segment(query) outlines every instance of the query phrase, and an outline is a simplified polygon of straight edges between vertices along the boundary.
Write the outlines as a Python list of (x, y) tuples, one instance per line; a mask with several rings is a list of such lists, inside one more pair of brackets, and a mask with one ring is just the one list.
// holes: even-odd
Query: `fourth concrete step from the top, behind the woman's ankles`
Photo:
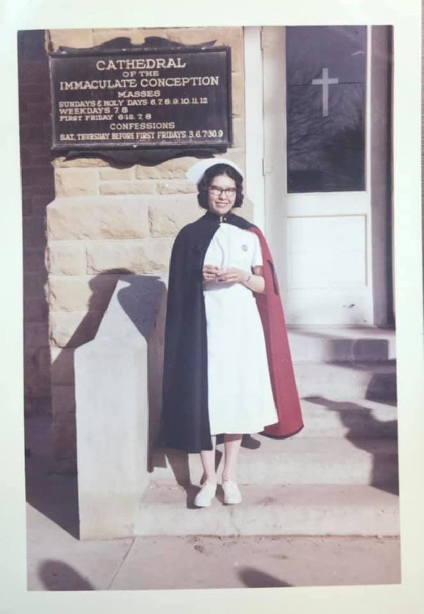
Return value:
[[(237, 464), (240, 484), (396, 484), (398, 445), (393, 439), (294, 437), (276, 440), (261, 435), (245, 438)], [(248, 445), (249, 447), (246, 447)], [(217, 446), (218, 475), (224, 446)], [(198, 484), (200, 454), (157, 448), (152, 480)]]

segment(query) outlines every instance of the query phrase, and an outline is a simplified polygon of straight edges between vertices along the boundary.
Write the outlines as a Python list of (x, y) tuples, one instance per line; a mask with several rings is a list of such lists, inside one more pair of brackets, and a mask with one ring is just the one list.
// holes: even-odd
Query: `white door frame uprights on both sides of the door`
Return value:
[[(366, 216), (366, 283), (371, 286), (370, 325), (391, 324), (391, 27), (367, 26), (366, 68), (366, 151), (365, 192), (369, 198)], [(272, 245), (283, 299), (286, 295), (287, 179), (286, 147), (286, 84), (283, 78), (275, 87), (281, 101), (278, 109), (264, 96), (264, 82), (272, 71), (281, 71), (285, 58), (285, 26), (245, 26), (245, 119), (246, 119), (246, 195), (253, 201), (253, 222), (264, 231)], [(269, 53), (269, 49), (277, 53)], [(258, 91), (262, 95), (258, 96)], [(384, 91), (386, 95), (384, 94)], [(371, 99), (370, 99), (371, 96)], [(275, 105), (274, 105), (275, 106)], [(275, 141), (265, 148), (265, 135)], [(269, 137), (268, 137), (269, 138)], [(267, 157), (267, 151), (279, 152)], [(283, 163), (284, 173), (276, 173), (269, 181), (273, 165)], [(331, 193), (329, 193), (331, 195)], [(333, 193), (336, 194), (336, 193)], [(279, 208), (272, 203), (282, 204)], [(280, 249), (281, 247), (281, 249)], [(283, 273), (283, 274), (281, 274)]]

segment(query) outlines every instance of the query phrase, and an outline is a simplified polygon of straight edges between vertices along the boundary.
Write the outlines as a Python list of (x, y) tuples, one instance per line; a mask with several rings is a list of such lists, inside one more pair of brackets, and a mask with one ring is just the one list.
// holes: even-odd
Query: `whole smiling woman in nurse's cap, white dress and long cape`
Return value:
[(205, 216), (173, 245), (163, 374), (167, 445), (200, 453), (216, 492), (215, 436), (224, 435), (225, 503), (240, 503), (236, 462), (243, 434), (288, 437), (303, 424), (272, 258), (259, 228), (235, 216), (243, 176), (229, 160), (197, 162), (187, 177)]

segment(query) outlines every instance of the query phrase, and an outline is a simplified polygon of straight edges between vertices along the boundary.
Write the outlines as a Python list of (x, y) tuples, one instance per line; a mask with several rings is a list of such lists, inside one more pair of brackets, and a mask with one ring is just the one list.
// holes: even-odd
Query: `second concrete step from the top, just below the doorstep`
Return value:
[(294, 364), (300, 397), (337, 400), (396, 399), (395, 362), (339, 362)]

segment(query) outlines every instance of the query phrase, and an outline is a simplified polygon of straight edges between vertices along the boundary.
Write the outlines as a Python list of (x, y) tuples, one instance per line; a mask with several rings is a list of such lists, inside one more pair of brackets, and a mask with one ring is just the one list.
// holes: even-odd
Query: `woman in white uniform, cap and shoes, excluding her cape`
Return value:
[[(222, 166), (224, 163), (226, 166)], [(214, 166), (216, 174), (214, 174)], [(205, 174), (206, 172), (206, 174)], [(264, 292), (259, 239), (226, 223), (226, 214), (241, 192), (242, 174), (229, 160), (195, 164), (191, 181), (206, 181), (206, 205), (219, 216), (219, 227), (203, 265), (208, 338), (208, 408), (213, 449), (202, 451), (206, 481), (195, 497), (199, 507), (211, 505), (216, 492), (214, 435), (224, 434), (222, 488), (225, 503), (240, 503), (236, 463), (243, 434), (261, 432), (278, 421), (273, 400), (264, 332), (254, 292)]]

